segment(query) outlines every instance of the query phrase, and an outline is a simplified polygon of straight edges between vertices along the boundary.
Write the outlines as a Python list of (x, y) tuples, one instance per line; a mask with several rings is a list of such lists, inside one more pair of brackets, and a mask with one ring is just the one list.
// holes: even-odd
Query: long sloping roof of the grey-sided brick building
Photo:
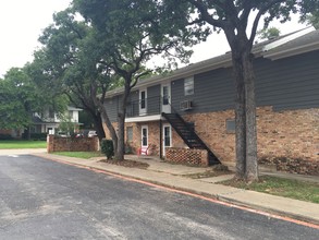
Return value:
[[(295, 55), (305, 53), (319, 49), (319, 29), (306, 27), (273, 39), (269, 39), (254, 45), (251, 52), (256, 58), (263, 57), (271, 60), (287, 58)], [(192, 63), (168, 74), (151, 76), (140, 80), (133, 89), (147, 87), (158, 83), (184, 79), (194, 74), (232, 65), (231, 51), (224, 55), (210, 58), (197, 63)], [(115, 88), (107, 93), (107, 97), (112, 97), (123, 93), (123, 87)]]

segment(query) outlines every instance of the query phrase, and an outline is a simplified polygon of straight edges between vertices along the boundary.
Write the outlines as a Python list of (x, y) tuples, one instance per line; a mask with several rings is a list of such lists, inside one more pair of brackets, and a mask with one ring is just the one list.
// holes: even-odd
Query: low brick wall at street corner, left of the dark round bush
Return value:
[(99, 149), (98, 137), (47, 136), (47, 151), (52, 152), (95, 152)]

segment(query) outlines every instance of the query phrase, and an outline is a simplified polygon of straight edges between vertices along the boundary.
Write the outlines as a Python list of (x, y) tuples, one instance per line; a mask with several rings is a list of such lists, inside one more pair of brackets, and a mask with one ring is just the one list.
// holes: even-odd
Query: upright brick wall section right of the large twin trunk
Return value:
[(319, 161), (319, 109), (257, 111), (258, 154)]

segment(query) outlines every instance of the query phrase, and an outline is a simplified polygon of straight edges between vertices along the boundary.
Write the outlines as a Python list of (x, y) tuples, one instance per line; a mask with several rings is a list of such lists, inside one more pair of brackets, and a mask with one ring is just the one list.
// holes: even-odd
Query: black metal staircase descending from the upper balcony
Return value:
[(162, 116), (168, 120), (168, 122), (173, 127), (189, 148), (206, 149), (208, 152), (209, 165), (220, 164), (220, 160), (179, 113), (162, 112)]

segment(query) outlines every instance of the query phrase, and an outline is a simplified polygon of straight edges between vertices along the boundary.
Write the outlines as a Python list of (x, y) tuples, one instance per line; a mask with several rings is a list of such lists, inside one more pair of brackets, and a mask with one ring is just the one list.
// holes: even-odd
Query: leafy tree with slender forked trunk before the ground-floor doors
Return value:
[[(186, 34), (187, 26), (184, 23), (175, 22), (175, 26), (179, 27), (171, 27), (169, 11), (159, 8), (160, 5), (152, 1), (74, 0), (73, 3), (97, 29), (96, 38), (103, 53), (100, 67), (124, 80), (124, 93), (118, 115), (118, 133), (107, 116), (103, 118), (112, 135), (114, 158), (121, 160), (124, 158), (126, 105), (131, 89), (140, 77), (149, 74), (149, 70), (144, 68), (145, 62), (161, 53), (187, 59), (189, 51), (185, 50), (184, 46), (191, 46), (197, 39), (192, 39)], [(180, 20), (181, 23), (184, 21), (182, 17)], [(103, 106), (99, 109), (106, 115)]]

